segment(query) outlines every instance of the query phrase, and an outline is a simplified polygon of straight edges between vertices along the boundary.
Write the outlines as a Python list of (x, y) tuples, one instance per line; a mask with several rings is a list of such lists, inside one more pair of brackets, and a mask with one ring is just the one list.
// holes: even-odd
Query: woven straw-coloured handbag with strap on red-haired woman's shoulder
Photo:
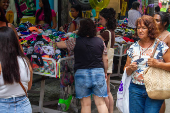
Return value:
[[(154, 57), (156, 48), (160, 41), (157, 42), (151, 58)], [(148, 67), (144, 73), (144, 83), (148, 96), (151, 99), (163, 100), (170, 98), (170, 72), (155, 68)]]

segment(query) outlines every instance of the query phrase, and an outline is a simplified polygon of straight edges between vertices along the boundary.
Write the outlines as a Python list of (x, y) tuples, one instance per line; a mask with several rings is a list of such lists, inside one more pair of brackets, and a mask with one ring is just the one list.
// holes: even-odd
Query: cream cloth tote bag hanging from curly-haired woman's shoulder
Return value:
[(107, 44), (107, 57), (108, 57), (107, 73), (112, 73), (114, 48), (111, 48), (111, 32), (109, 30), (105, 30), (105, 31), (109, 32), (109, 41)]

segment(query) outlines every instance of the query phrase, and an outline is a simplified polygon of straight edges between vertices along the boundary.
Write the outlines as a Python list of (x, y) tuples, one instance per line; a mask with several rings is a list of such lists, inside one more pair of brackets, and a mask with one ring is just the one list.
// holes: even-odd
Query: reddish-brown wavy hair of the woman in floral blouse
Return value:
[(153, 17), (148, 16), (148, 15), (144, 15), (141, 18), (138, 18), (136, 20), (136, 28), (135, 28), (135, 35), (137, 36), (137, 27), (139, 24), (141, 24), (143, 22), (143, 24), (148, 28), (148, 37), (150, 39), (155, 39), (157, 38), (158, 34), (159, 34), (159, 30), (158, 27), (156, 25), (156, 22), (154, 20)]

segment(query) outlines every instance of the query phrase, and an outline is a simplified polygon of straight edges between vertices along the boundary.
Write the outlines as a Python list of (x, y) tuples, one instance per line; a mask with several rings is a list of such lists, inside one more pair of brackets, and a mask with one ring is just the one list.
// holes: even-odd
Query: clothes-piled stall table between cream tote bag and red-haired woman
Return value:
[(130, 45), (134, 43), (134, 33), (133, 29), (128, 28), (128, 19), (124, 18), (123, 20), (118, 20), (118, 26), (115, 29), (115, 44), (114, 44), (114, 56), (118, 58), (118, 71), (116, 74), (112, 74), (112, 76), (121, 76), (121, 62), (122, 57), (127, 55), (127, 50)]

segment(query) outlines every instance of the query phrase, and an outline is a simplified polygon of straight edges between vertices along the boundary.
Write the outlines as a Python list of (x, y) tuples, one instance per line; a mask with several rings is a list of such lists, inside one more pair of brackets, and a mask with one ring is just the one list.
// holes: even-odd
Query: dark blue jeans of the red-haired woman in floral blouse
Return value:
[(129, 108), (130, 113), (159, 113), (164, 100), (154, 100), (148, 97), (145, 85), (130, 83)]

